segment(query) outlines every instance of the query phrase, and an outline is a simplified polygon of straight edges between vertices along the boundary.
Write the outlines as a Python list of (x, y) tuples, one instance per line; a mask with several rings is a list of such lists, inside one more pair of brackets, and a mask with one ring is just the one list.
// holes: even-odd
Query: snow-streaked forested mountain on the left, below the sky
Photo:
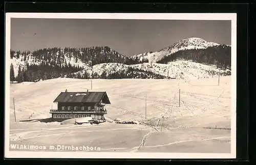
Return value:
[(14, 74), (17, 76), (18, 67), (27, 69), (27, 65), (46, 64), (52, 67), (79, 67), (92, 66), (100, 63), (118, 62), (125, 63), (127, 57), (108, 46), (86, 48), (45, 48), (32, 53), (11, 50), (10, 64), (13, 65)]

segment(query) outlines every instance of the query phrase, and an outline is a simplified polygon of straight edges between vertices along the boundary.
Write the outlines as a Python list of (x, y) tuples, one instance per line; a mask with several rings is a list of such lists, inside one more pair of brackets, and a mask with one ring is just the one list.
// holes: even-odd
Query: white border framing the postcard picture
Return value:
[[(231, 153), (140, 153), (140, 152), (38, 152), (9, 151), (10, 128), (10, 28), (11, 18), (62, 19), (161, 19), (161, 20), (231, 20)], [(5, 157), (6, 158), (236, 158), (236, 13), (6, 13), (5, 61)]]

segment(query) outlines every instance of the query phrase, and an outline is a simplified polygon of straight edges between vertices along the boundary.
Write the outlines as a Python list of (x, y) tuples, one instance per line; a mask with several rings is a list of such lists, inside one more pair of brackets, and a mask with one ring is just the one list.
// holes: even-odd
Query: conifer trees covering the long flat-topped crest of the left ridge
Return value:
[(86, 48), (54, 47), (38, 49), (32, 52), (20, 52), (19, 50), (10, 51), (11, 59), (13, 57), (19, 59), (20, 56), (23, 56), (24, 61), (29, 60), (29, 58), (33, 58), (33, 62), (44, 62), (58, 66), (65, 63), (67, 64), (66, 58), (73, 58), (74, 62), (76, 63), (78, 62), (78, 60), (80, 60), (82, 63), (88, 64), (89, 66), (101, 63), (121, 63), (131, 65), (148, 62), (148, 60), (145, 60), (144, 58), (142, 61), (139, 61), (139, 58), (130, 59), (128, 57), (125, 57), (108, 46), (95, 46)]

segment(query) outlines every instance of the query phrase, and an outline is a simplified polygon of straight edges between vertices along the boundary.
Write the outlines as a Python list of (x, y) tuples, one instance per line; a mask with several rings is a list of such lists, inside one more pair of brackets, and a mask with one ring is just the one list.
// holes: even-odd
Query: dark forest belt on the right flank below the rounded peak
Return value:
[(206, 49), (185, 49), (164, 57), (157, 63), (167, 64), (177, 59), (191, 60), (201, 64), (217, 65), (220, 68), (231, 68), (231, 47), (218, 45)]

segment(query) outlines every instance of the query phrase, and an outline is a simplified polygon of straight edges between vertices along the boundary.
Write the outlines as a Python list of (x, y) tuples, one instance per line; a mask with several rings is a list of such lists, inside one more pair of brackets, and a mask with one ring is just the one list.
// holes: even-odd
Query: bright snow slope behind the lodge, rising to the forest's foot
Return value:
[[(228, 122), (230, 119), (231, 76), (208, 79), (93, 79), (92, 91), (108, 93), (111, 104), (106, 105), (106, 117), (122, 120), (144, 120), (145, 94), (147, 120), (165, 116), (173, 125), (203, 125)], [(87, 79), (56, 78), (28, 85), (10, 85), (10, 97), (15, 98), (17, 120), (51, 117), (57, 108), (53, 100), (60, 92), (82, 91), (91, 87)], [(181, 106), (179, 105), (181, 90)], [(47, 96), (47, 97), (46, 97)], [(39, 101), (38, 100), (44, 100)], [(10, 99), (10, 121), (14, 121)], [(179, 121), (179, 122), (178, 122)]]

